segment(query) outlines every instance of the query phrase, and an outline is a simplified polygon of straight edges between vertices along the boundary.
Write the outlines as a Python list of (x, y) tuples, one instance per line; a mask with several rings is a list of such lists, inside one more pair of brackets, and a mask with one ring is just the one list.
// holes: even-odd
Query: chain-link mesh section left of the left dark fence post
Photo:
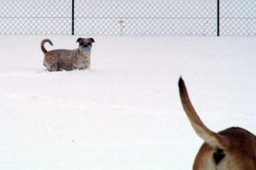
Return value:
[(4, 0), (0, 8), (1, 34), (70, 34), (70, 1)]

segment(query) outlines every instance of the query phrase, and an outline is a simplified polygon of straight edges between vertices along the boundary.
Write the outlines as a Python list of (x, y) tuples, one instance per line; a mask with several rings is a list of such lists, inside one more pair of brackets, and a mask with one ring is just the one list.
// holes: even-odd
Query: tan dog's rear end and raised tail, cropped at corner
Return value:
[(214, 133), (198, 117), (181, 78), (179, 88), (181, 102), (192, 127), (205, 141), (197, 153), (193, 169), (256, 169), (256, 136), (242, 128)]

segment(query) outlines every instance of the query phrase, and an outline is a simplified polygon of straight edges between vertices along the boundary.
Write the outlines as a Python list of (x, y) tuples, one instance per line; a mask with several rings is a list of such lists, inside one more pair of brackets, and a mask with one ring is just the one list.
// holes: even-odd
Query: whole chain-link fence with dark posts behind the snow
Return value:
[(255, 0), (220, 1), (220, 18), (217, 4), (216, 0), (2, 0), (0, 34), (256, 35)]

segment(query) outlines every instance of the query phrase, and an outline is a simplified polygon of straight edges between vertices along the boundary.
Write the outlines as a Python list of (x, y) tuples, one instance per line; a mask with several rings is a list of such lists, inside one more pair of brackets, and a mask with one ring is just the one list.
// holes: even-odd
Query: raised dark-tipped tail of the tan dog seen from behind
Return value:
[(196, 131), (197, 135), (200, 136), (207, 144), (214, 149), (226, 149), (229, 147), (229, 141), (225, 136), (221, 136), (218, 133), (214, 133), (208, 129), (204, 123), (200, 120), (199, 116), (194, 110), (194, 107), (189, 100), (188, 91), (186, 89), (183, 79), (179, 80), (180, 97), (181, 102), (186, 112), (192, 127)]

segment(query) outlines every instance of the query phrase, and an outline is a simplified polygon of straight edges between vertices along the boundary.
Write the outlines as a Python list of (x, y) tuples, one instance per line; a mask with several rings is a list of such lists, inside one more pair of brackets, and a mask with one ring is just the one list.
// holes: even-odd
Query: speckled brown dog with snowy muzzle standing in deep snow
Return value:
[(51, 45), (52, 42), (49, 39), (44, 39), (41, 42), (41, 49), (44, 53), (43, 63), (49, 71), (60, 71), (60, 69), (72, 71), (73, 69), (89, 68), (93, 38), (78, 38), (76, 42), (79, 43), (79, 46), (75, 50), (57, 49), (47, 52), (46, 48), (44, 48), (44, 43), (46, 42)]

